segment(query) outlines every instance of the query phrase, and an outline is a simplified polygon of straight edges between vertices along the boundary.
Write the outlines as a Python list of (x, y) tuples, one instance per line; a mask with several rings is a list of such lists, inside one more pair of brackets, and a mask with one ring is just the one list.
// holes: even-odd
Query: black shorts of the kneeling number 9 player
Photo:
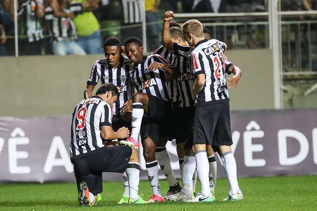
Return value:
[(80, 182), (87, 182), (94, 195), (103, 192), (103, 172), (123, 173), (128, 166), (132, 149), (129, 146), (103, 147), (86, 157), (71, 159), (79, 189)]

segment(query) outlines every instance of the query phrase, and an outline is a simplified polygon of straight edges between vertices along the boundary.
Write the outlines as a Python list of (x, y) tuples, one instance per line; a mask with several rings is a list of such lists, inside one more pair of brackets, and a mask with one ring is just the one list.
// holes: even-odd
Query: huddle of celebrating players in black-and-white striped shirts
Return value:
[[(104, 43), (105, 58), (93, 65), (85, 100), (75, 107), (71, 125), (70, 157), (82, 206), (101, 200), (102, 172), (123, 173), (118, 204), (213, 202), (215, 157), (229, 181), (224, 201), (243, 198), (231, 151), (228, 94), (228, 88), (238, 84), (241, 70), (227, 60), (226, 44), (207, 39), (210, 35), (198, 20), (181, 27), (170, 22), (173, 18), (172, 11), (164, 13), (163, 45), (150, 55), (144, 55), (136, 37), (128, 38), (124, 47), (119, 39), (109, 38)], [(226, 80), (225, 73), (232, 76)], [(99, 80), (102, 86), (92, 96)], [(138, 193), (139, 139), (153, 190), (148, 200)], [(181, 186), (166, 150), (167, 141), (173, 139)], [(165, 196), (158, 165), (169, 184)], [(196, 193), (197, 177), (201, 193)]]

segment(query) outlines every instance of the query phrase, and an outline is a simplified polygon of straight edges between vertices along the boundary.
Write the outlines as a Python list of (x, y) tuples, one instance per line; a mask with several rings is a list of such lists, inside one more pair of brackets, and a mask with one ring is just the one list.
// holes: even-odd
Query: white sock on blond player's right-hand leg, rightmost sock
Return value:
[(237, 192), (240, 192), (238, 179), (237, 179), (236, 160), (234, 159), (234, 156), (231, 151), (224, 153), (222, 156), (224, 158), (225, 169), (227, 172), (229, 185), (230, 185), (229, 195), (232, 196), (232, 194), (236, 194)]

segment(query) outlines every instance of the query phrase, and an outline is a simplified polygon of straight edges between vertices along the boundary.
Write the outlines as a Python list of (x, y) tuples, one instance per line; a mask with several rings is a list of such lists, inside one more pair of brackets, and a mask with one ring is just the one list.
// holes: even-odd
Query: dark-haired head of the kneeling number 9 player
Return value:
[(110, 106), (118, 99), (119, 91), (118, 88), (111, 83), (103, 84), (96, 91), (96, 95), (99, 95), (106, 103)]

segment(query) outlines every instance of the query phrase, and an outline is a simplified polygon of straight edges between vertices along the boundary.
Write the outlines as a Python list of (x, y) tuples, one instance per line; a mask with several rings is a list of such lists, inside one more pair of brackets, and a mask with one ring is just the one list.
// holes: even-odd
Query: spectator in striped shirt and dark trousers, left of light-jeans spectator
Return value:
[[(42, 3), (38, 0), (18, 1), (18, 35), (19, 55), (42, 54), (43, 30), (40, 20), (44, 17)], [(11, 20), (14, 21), (13, 0), (10, 9)]]

